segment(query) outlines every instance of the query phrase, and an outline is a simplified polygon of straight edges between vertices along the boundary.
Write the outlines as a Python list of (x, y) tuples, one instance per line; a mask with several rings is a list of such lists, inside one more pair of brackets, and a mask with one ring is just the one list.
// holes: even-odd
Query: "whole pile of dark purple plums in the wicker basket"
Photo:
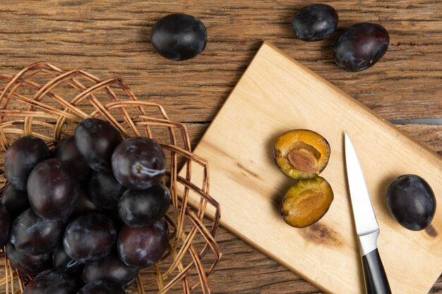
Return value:
[(169, 245), (166, 159), (148, 137), (123, 140), (97, 118), (51, 152), (20, 137), (5, 154), (0, 247), (35, 276), (24, 293), (125, 293)]

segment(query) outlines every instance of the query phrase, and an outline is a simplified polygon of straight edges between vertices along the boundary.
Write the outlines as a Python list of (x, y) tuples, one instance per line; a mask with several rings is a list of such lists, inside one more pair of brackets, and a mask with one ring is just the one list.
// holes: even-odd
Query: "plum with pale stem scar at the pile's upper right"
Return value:
[(160, 144), (148, 137), (131, 137), (112, 154), (115, 178), (131, 190), (145, 190), (162, 180), (166, 158)]

